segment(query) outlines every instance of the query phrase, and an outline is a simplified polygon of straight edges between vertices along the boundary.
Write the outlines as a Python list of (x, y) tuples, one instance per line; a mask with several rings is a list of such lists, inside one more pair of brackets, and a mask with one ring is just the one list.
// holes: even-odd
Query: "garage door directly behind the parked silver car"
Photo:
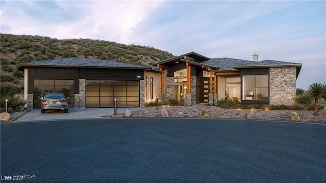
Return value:
[(74, 83), (73, 80), (63, 79), (34, 79), (33, 108), (41, 107), (41, 99), (45, 93), (60, 92), (69, 97), (69, 108), (74, 107)]

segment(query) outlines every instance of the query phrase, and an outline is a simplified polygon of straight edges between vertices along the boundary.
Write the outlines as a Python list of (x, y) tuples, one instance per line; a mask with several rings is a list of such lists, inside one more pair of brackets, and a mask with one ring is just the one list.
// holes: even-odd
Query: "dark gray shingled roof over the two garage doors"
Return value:
[(102, 60), (95, 58), (60, 58), (20, 64), (20, 67), (71, 67), (71, 68), (113, 68), (113, 69), (151, 69), (151, 67)]

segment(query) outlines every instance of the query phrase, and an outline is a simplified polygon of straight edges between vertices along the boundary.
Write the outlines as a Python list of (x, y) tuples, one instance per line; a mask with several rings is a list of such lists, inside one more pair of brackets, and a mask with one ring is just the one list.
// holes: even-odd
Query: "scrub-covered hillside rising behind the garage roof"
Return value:
[(150, 66), (174, 55), (149, 46), (125, 45), (92, 39), (63, 39), (43, 36), (0, 34), (1, 83), (23, 87), (21, 63), (67, 57), (97, 58)]

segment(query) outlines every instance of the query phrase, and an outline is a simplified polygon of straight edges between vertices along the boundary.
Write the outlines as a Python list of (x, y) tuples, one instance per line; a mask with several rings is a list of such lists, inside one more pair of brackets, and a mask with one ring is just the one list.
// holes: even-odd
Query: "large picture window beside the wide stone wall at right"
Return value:
[(269, 100), (268, 75), (242, 76), (242, 100)]

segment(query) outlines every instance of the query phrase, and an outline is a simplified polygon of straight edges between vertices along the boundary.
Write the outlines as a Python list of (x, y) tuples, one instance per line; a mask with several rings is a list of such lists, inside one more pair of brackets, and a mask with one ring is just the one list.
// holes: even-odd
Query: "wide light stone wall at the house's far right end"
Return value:
[(293, 105), (296, 68), (269, 68), (269, 105)]

